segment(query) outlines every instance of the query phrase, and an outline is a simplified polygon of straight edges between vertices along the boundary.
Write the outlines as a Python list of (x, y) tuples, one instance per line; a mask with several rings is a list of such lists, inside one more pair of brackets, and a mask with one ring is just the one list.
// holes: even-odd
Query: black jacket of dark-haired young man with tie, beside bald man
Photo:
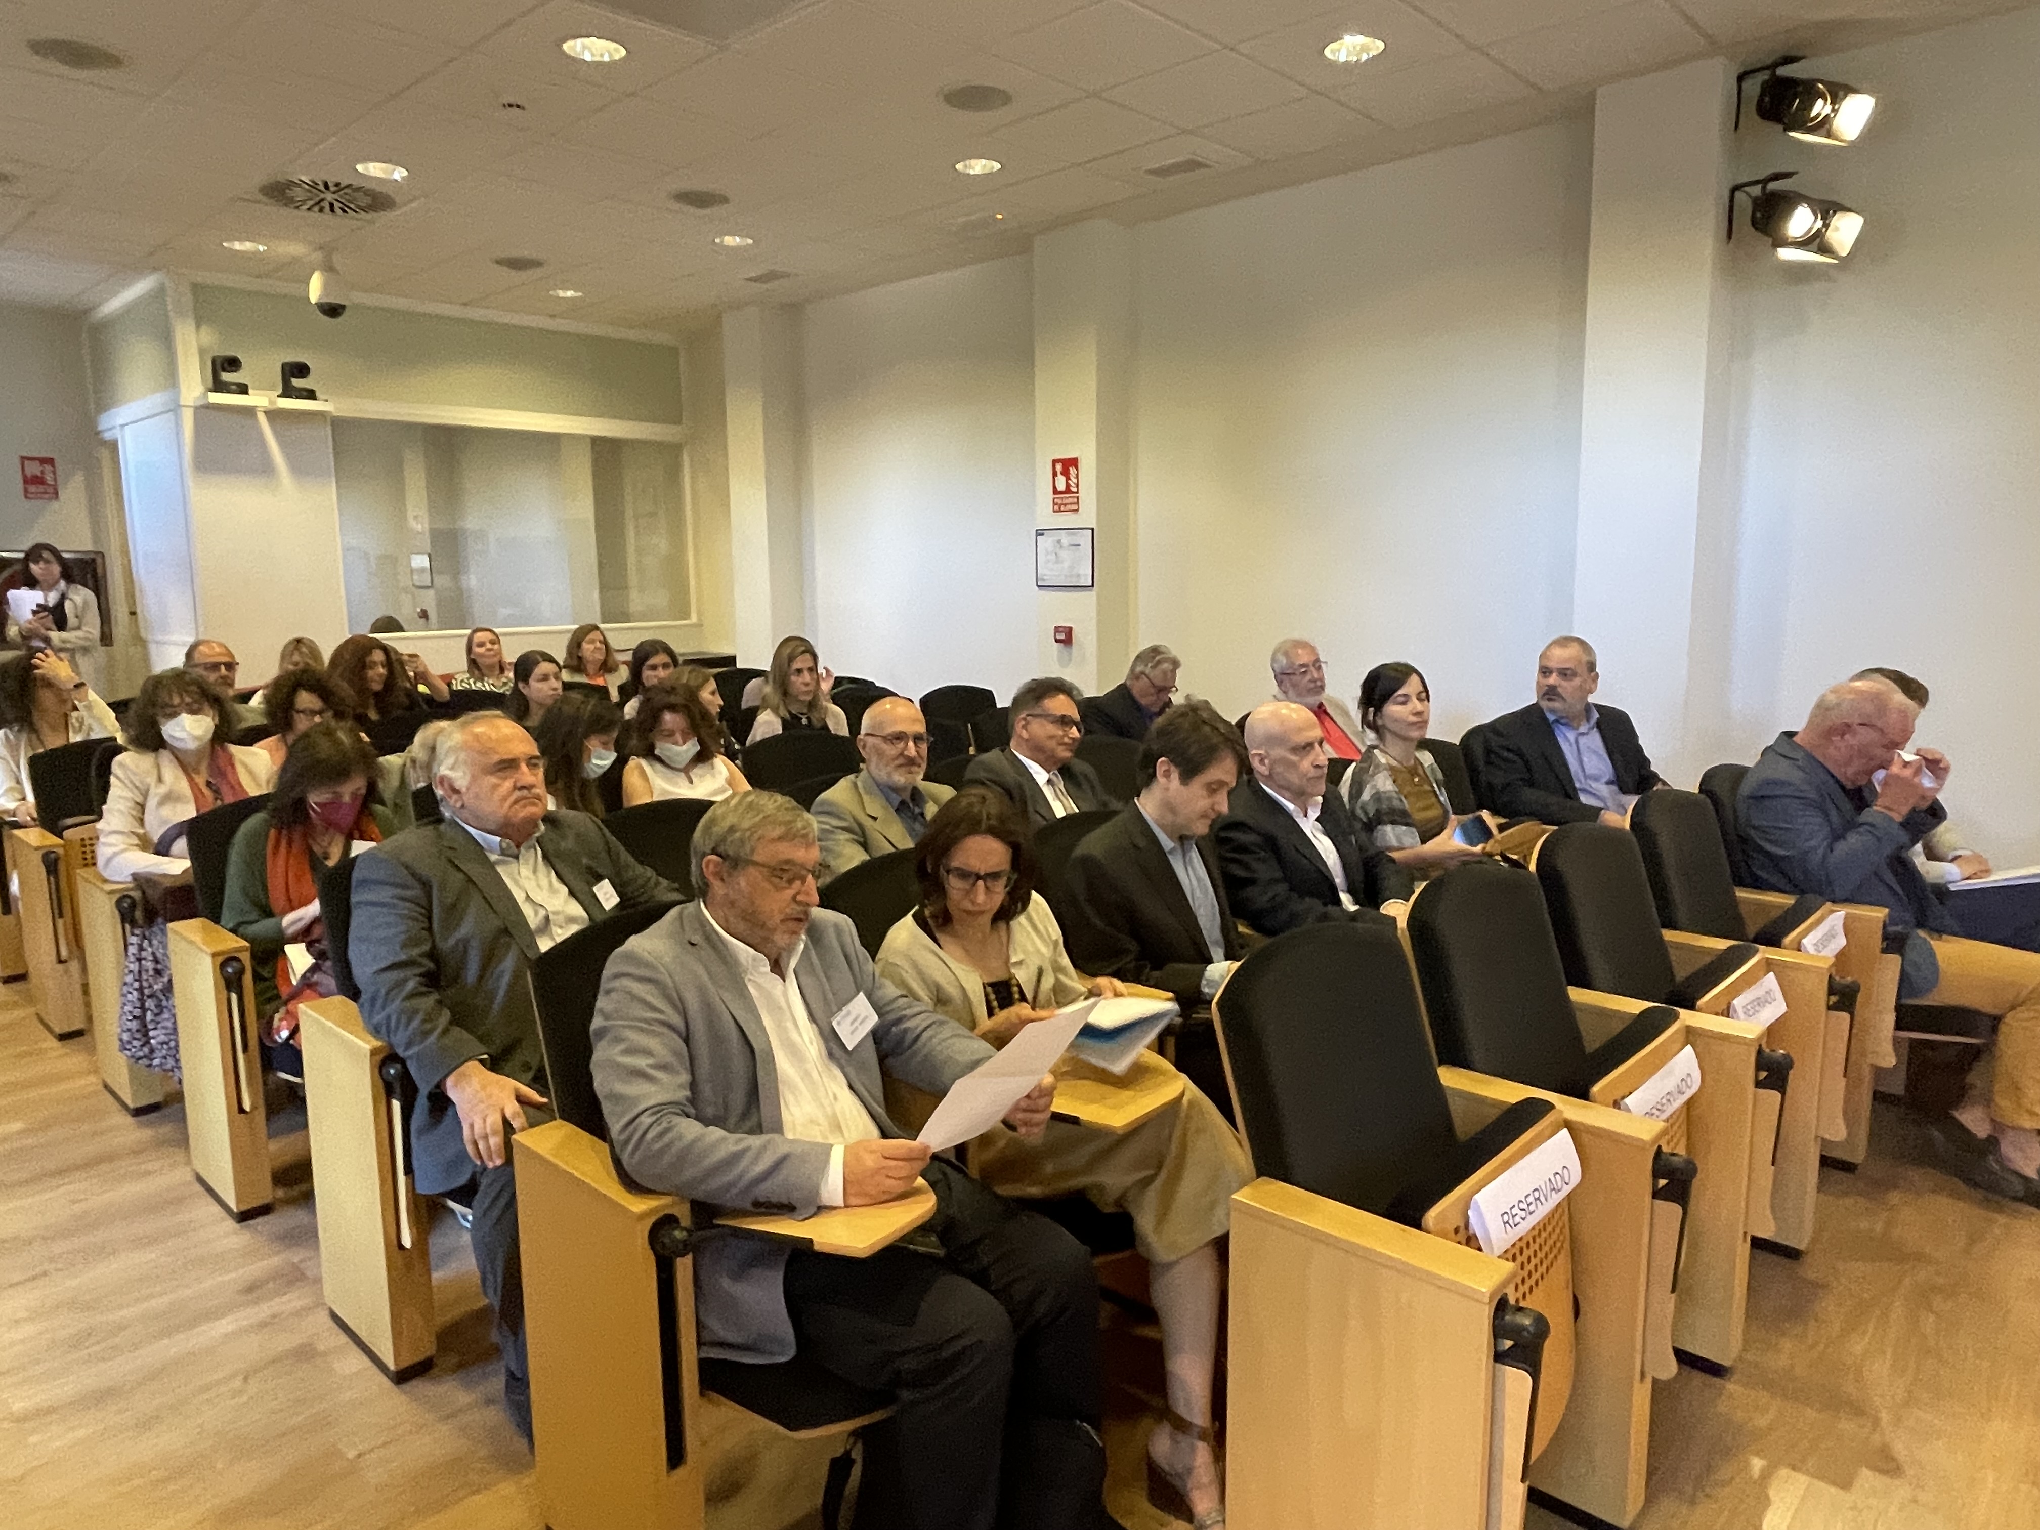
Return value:
[[(1197, 855), (1218, 896), (1226, 961), (1236, 961), (1244, 947), (1210, 838), (1197, 840)], [(1079, 971), (1167, 989), (1185, 1016), (1204, 1006), (1204, 969), (1212, 965), (1212, 951), (1183, 883), (1136, 804), (1128, 802), (1118, 818), (1085, 836), (1069, 857), (1063, 879), (1071, 910), (1063, 945)]]

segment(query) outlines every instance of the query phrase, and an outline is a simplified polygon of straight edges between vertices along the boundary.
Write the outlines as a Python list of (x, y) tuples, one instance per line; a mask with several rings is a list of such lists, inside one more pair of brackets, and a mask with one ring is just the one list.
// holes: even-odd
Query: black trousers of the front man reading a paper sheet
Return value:
[(1089, 1251), (942, 1159), (922, 1177), (940, 1257), (796, 1253), (785, 1267), (802, 1353), (898, 1401), (865, 1432), (859, 1530), (1104, 1524)]

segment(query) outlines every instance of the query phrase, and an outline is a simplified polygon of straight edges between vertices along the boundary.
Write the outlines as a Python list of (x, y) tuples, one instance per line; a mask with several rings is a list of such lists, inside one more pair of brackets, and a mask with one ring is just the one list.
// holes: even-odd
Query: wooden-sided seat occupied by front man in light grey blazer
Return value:
[[(800, 1355), (775, 1365), (700, 1359), (694, 1248), (765, 1236), (859, 1259), (926, 1222), (934, 1193), (916, 1183), (883, 1206), (692, 1226), (685, 1200), (622, 1179), (590, 1075), (590, 1020), (610, 953), (669, 910), (622, 912), (532, 963), (557, 1120), (518, 1132), (512, 1159), (541, 1518), (553, 1530), (702, 1526), (714, 1475), (710, 1410), (726, 1406), (771, 1426), (753, 1436), (767, 1457), (759, 1469), (812, 1471), (822, 1526), (834, 1530), (857, 1432), (891, 1399)], [(845, 1446), (832, 1455), (836, 1440)]]

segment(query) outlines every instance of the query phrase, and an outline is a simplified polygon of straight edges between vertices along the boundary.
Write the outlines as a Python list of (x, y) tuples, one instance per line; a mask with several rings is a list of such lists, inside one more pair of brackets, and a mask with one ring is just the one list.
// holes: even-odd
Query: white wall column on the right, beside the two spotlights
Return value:
[[(1726, 677), (1722, 208), (1734, 73), (1701, 59), (1595, 94), (1573, 630), (1661, 773), (1691, 785)], [(1705, 673), (1703, 673), (1705, 671)], [(1722, 687), (1716, 694), (1716, 687)]]

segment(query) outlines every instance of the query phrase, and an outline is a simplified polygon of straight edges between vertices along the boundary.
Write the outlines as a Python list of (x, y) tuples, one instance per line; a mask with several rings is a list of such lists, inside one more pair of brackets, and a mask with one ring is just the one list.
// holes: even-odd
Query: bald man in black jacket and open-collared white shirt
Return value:
[(1293, 702), (1246, 714), (1253, 775), (1232, 789), (1218, 820), (1218, 863), (1232, 908), (1261, 934), (1318, 920), (1371, 918), (1410, 898), (1416, 881), (1361, 836), (1336, 794), (1326, 794), (1324, 734)]

